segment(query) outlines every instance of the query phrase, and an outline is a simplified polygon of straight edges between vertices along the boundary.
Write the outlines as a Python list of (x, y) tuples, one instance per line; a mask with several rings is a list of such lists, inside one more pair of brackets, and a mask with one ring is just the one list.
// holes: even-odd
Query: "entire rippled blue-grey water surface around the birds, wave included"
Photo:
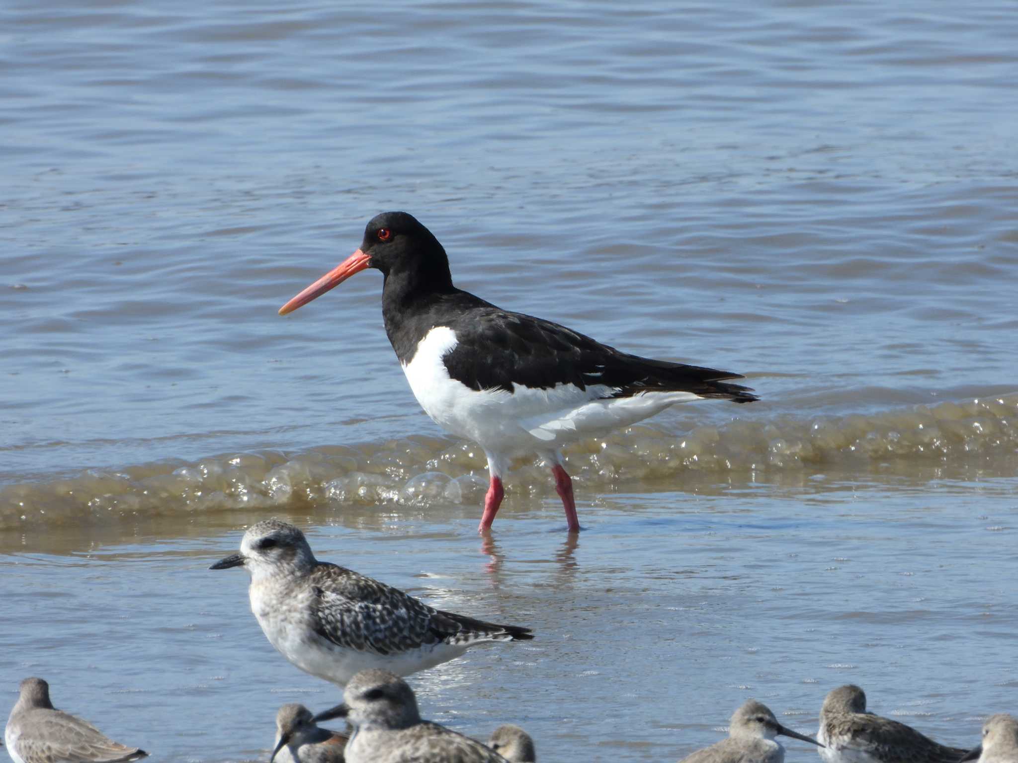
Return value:
[[(154, 759), (267, 760), (338, 691), (275, 654), (267, 516), (323, 559), (534, 628), (412, 679), (543, 760), (669, 760), (748, 696), (957, 746), (1018, 709), (1011, 4), (9, 2), (0, 9), (0, 696)], [(459, 286), (744, 373), (567, 452), (586, 530), (419, 410), (383, 210)], [(0, 713), (7, 705), (0, 705)], [(791, 742), (790, 759), (815, 752)]]

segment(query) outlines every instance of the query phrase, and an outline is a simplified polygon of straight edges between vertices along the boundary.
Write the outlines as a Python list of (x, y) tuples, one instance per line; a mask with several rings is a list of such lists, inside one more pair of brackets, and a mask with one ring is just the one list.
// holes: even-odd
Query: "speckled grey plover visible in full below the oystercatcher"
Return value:
[(211, 569), (231, 567), (250, 574), (251, 611), (270, 643), (301, 670), (339, 686), (370, 667), (407, 676), (474, 644), (533, 638), (529, 628), (441, 611), (385, 583), (319, 562), (304, 534), (278, 519), (251, 525), (240, 553)]

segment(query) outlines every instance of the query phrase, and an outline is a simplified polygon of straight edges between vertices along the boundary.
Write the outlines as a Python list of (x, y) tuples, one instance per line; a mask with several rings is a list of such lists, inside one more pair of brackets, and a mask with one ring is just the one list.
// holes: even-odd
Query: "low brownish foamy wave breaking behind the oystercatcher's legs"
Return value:
[[(823, 419), (736, 419), (687, 434), (633, 426), (568, 449), (569, 471), (588, 490), (675, 488), (693, 473), (868, 470), (874, 464), (976, 467), (1014, 474), (1018, 394)], [(475, 445), (410, 436), (297, 455), (275, 451), (157, 462), (121, 471), (0, 490), (0, 529), (104, 518), (327, 505), (479, 504), (487, 461)], [(523, 464), (507, 489), (551, 493), (544, 465)]]

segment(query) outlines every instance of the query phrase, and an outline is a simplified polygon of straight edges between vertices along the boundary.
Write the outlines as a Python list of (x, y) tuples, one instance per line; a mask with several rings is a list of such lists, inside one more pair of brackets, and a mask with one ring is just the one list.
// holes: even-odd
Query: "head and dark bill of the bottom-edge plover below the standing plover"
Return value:
[(315, 722), (346, 718), (358, 728), (406, 728), (420, 722), (417, 700), (406, 682), (388, 670), (356, 673), (343, 690), (343, 704), (319, 713)]

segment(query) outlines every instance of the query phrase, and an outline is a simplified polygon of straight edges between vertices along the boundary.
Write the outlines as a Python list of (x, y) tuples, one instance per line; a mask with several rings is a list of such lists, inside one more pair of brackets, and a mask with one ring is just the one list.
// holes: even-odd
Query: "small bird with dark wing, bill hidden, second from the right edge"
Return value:
[(891, 718), (866, 711), (866, 694), (854, 684), (824, 698), (819, 751), (827, 763), (957, 763), (967, 750), (939, 745)]

